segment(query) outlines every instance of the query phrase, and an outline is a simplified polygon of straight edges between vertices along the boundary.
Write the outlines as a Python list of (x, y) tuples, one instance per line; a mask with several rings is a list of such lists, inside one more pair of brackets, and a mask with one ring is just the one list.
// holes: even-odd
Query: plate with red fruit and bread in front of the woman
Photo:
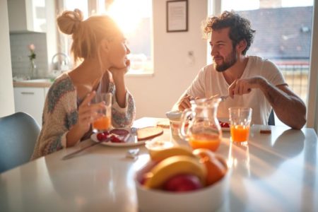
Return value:
[(137, 129), (136, 134), (131, 132), (131, 128), (114, 128), (110, 131), (103, 131), (92, 134), (90, 139), (95, 142), (101, 142), (105, 146), (139, 146), (144, 144), (149, 139), (163, 134), (163, 129), (157, 126), (148, 126)]

